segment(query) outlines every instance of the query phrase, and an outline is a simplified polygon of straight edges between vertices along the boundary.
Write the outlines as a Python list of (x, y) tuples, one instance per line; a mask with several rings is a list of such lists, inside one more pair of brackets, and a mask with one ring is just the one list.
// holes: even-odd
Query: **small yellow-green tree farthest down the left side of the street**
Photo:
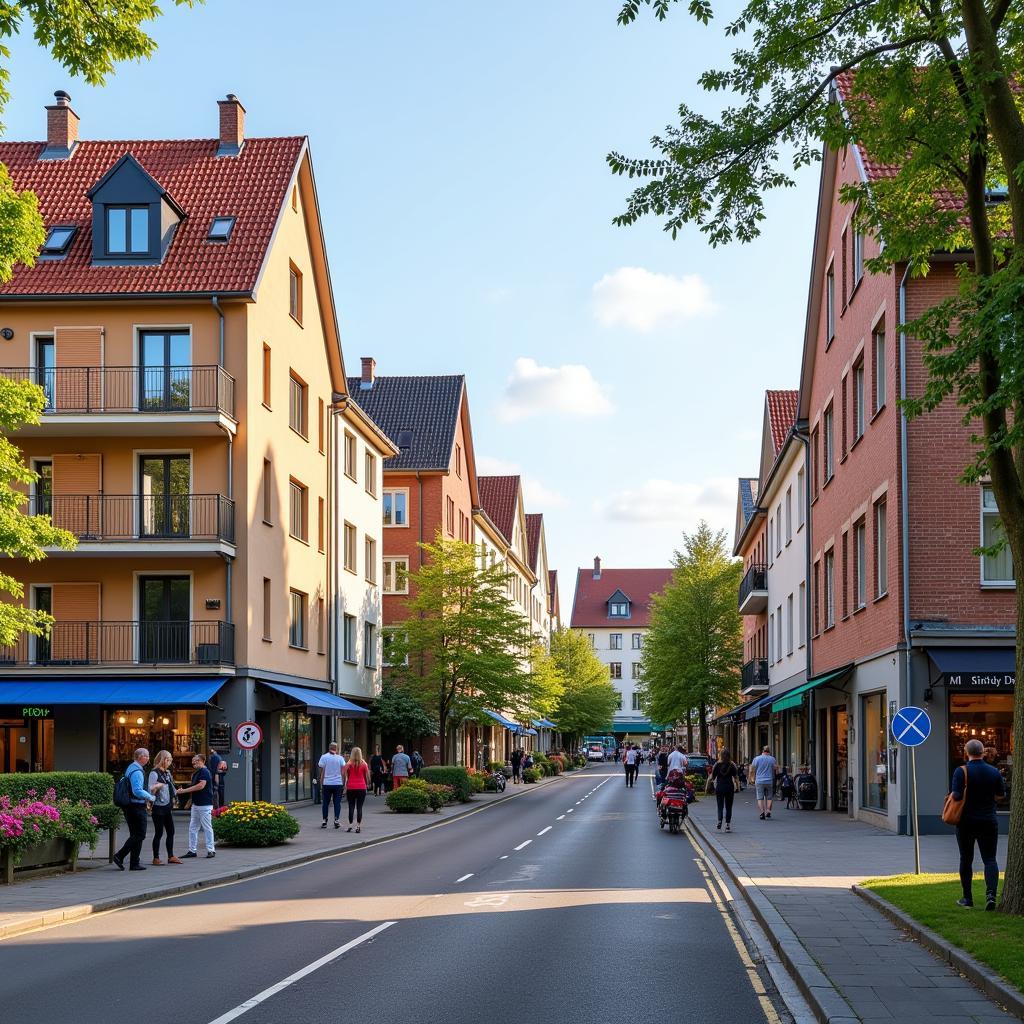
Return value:
[(604, 732), (618, 706), (618, 695), (608, 668), (602, 665), (590, 641), (575, 630), (551, 635), (551, 659), (562, 682), (562, 692), (549, 716), (563, 736), (577, 744), (584, 736)]

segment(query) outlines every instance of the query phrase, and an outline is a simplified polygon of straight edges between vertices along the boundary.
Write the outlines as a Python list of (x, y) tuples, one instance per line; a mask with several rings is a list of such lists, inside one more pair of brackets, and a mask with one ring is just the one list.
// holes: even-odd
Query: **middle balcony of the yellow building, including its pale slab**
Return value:
[(33, 515), (78, 538), (62, 554), (234, 554), (234, 502), (223, 495), (34, 495)]

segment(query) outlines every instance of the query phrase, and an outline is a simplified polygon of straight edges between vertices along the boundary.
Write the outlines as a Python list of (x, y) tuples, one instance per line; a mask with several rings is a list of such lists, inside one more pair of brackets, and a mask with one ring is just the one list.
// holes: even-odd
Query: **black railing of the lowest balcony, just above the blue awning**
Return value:
[(220, 622), (54, 623), (0, 647), (3, 666), (233, 664), (234, 625)]

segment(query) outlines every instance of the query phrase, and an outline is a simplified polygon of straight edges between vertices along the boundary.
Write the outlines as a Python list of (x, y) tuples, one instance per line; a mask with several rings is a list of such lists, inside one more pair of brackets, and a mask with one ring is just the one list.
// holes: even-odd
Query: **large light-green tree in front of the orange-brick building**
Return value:
[(507, 569), (481, 564), (479, 549), (440, 535), (421, 545), (413, 596), (388, 648), (392, 676), (437, 719), (445, 753), (454, 731), (485, 711), (529, 708), (530, 634), (508, 592)]

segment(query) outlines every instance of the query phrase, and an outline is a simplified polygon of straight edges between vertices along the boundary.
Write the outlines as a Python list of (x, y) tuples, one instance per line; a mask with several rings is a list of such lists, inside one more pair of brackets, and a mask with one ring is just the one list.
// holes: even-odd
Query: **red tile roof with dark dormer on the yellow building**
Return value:
[[(43, 142), (0, 142), (0, 162), (15, 187), (39, 197), (46, 225), (78, 225), (63, 259), (18, 267), (0, 284), (0, 296), (252, 292), (305, 139), (247, 139), (237, 157), (217, 157), (218, 144), (217, 139), (84, 141), (67, 160), (39, 160)], [(126, 153), (186, 217), (162, 263), (93, 266), (86, 193)], [(236, 218), (227, 243), (206, 241), (216, 216)]]

